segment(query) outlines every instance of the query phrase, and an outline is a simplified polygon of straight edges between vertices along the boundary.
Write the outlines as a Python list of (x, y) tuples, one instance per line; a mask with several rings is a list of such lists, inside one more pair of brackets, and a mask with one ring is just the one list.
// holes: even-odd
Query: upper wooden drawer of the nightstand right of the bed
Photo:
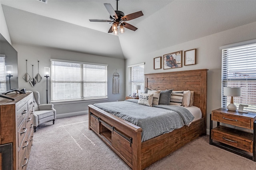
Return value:
[(217, 121), (217, 122), (222, 122), (222, 123), (227, 123), (230, 125), (238, 126), (238, 127), (243, 127), (243, 128), (249, 128), (251, 129), (252, 123), (250, 118), (246, 117), (239, 117), (236, 115), (228, 115), (228, 114), (223, 114), (223, 113), (212, 113), (212, 120)]

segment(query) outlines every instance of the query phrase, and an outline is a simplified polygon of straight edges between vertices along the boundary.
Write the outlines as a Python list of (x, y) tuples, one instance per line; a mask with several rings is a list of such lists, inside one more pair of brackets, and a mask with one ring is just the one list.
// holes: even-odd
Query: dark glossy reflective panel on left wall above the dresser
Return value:
[(2, 61), (5, 61), (5, 63), (0, 63), (0, 67), (5, 70), (4, 68), (7, 65), (12, 66), (12, 73), (8, 75), (1, 75), (3, 73), (2, 71), (0, 73), (0, 93), (4, 93), (10, 89), (18, 89), (18, 52), (2, 34), (0, 34), (0, 54), (2, 58), (4, 57)]

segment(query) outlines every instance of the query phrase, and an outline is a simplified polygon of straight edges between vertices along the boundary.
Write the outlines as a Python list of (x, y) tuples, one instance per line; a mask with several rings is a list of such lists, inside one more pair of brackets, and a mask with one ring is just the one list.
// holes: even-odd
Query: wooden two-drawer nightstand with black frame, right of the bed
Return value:
[[(212, 128), (212, 121), (217, 127)], [(253, 133), (221, 126), (220, 123), (252, 129)], [(210, 114), (210, 144), (256, 161), (256, 113), (216, 109)]]

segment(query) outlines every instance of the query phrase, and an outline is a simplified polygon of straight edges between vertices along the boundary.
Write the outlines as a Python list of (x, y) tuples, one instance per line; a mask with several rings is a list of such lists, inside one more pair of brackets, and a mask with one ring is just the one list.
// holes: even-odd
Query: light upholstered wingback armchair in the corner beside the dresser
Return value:
[(34, 132), (36, 132), (36, 127), (41, 123), (52, 121), (54, 124), (56, 119), (56, 110), (53, 108), (53, 104), (40, 104), (39, 92), (33, 91), (34, 100)]

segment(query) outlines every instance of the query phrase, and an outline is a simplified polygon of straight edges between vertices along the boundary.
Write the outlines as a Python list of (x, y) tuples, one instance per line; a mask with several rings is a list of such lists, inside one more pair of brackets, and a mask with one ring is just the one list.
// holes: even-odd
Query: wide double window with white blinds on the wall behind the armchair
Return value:
[(51, 59), (51, 101), (107, 98), (107, 65)]

